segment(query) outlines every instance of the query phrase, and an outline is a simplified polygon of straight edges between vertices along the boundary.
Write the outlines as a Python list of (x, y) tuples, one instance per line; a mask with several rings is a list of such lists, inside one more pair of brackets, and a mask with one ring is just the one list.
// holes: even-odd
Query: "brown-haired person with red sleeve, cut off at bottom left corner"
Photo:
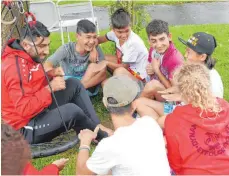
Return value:
[(68, 159), (62, 158), (38, 171), (31, 164), (31, 151), (23, 136), (6, 124), (1, 124), (2, 175), (59, 175)]

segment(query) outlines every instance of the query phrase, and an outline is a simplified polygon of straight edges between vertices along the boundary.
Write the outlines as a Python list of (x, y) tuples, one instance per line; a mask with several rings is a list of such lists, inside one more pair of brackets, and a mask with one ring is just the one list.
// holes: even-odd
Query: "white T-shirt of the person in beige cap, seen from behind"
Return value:
[(87, 167), (101, 175), (170, 175), (161, 128), (148, 116), (118, 128), (98, 144)]

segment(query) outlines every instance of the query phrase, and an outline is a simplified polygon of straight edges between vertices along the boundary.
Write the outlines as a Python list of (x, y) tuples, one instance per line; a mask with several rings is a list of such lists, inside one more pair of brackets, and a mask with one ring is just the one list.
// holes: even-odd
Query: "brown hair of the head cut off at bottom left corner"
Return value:
[(7, 124), (1, 124), (1, 173), (21, 175), (31, 159), (29, 145), (23, 136)]

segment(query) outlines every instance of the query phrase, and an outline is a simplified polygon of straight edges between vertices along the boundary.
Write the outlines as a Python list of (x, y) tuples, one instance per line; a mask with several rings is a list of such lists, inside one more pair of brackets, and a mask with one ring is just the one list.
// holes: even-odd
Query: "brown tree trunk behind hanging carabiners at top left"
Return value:
[[(16, 21), (13, 24), (1, 23), (2, 47), (5, 46), (6, 42), (10, 38), (19, 38), (18, 32), (21, 30), (21, 27), (24, 24), (24, 15), (19, 12), (19, 8), (17, 6), (17, 3), (18, 3), (18, 1), (12, 1), (11, 10), (9, 10), (8, 7), (4, 8), (5, 5), (2, 4), (1, 10), (3, 10), (3, 8), (4, 8), (4, 10), (3, 10), (3, 12), (1, 12), (1, 16), (2, 16), (2, 19), (4, 21), (12, 21), (13, 16), (16, 17)], [(24, 10), (27, 11), (26, 4), (24, 1), (23, 1), (23, 6), (24, 6)], [(15, 23), (17, 23), (17, 26), (15, 26)], [(10, 35), (11, 31), (12, 31), (12, 35)]]

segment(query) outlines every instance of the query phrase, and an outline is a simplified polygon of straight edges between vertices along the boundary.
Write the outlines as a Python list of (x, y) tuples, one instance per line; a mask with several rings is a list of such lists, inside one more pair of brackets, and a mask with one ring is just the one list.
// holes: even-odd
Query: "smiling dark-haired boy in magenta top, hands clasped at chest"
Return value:
[(142, 97), (164, 101), (158, 90), (171, 87), (173, 71), (182, 65), (183, 56), (175, 48), (172, 35), (169, 33), (168, 23), (153, 20), (146, 27), (150, 50), (146, 71), (149, 81), (141, 94)]

